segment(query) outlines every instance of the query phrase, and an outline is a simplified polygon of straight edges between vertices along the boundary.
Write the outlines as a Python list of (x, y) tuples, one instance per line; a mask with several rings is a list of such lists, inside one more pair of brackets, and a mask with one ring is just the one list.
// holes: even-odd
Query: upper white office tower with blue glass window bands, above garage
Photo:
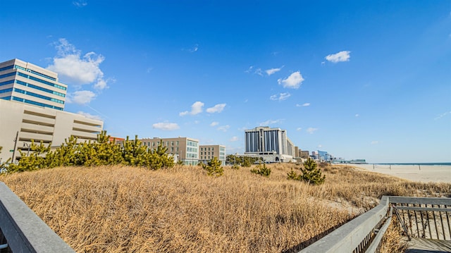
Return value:
[(53, 71), (18, 59), (0, 63), (0, 99), (63, 111), (66, 90)]

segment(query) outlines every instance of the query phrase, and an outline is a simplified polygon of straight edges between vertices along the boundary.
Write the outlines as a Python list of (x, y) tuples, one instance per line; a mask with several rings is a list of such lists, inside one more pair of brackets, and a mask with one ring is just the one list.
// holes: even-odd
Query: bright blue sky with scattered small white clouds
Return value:
[(451, 161), (451, 1), (2, 1), (0, 32), (109, 135)]

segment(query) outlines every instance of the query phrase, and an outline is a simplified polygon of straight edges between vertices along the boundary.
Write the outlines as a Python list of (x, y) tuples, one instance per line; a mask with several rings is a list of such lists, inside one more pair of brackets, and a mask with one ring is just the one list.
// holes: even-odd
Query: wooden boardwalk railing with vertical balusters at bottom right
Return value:
[(378, 252), (392, 214), (409, 238), (450, 240), (451, 198), (383, 196), (378, 206), (300, 252)]

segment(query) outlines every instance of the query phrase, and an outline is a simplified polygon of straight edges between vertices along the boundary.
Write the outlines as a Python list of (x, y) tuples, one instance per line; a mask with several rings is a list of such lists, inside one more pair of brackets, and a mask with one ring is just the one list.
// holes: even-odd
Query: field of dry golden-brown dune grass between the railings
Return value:
[[(209, 177), (200, 167), (54, 168), (1, 175), (77, 252), (295, 252), (376, 206), (382, 195), (437, 195), (420, 184), (352, 168), (324, 168), (319, 186), (272, 164)], [(350, 208), (349, 208), (350, 207)]]

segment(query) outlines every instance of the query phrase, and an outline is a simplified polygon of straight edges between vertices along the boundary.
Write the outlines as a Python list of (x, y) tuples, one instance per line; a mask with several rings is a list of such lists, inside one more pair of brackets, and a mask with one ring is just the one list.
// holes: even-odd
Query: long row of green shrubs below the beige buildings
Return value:
[(20, 152), (18, 164), (11, 164), (8, 172), (32, 171), (40, 168), (54, 168), (57, 166), (101, 166), (125, 164), (130, 166), (144, 166), (152, 170), (174, 166), (173, 157), (166, 154), (167, 147), (159, 146), (150, 150), (135, 136), (135, 140), (127, 140), (121, 144), (110, 142), (106, 131), (97, 135), (96, 142), (78, 143), (76, 137), (64, 140), (61, 147), (53, 152), (44, 144), (38, 146), (35, 142), (30, 145), (30, 154), (25, 156)]

